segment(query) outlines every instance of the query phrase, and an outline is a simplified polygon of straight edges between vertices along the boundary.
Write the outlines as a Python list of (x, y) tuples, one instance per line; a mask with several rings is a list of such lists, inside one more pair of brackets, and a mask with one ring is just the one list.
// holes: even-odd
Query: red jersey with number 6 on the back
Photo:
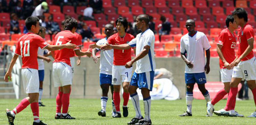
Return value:
[[(62, 32), (59, 32), (55, 36), (53, 45), (62, 45), (62, 44), (68, 43), (69, 41), (71, 41), (72, 44), (76, 44), (76, 42), (77, 42), (76, 35), (73, 34), (70, 30), (63, 30)], [(76, 49), (79, 49), (79, 48), (77, 47), (74, 50), (76, 50)], [(61, 50), (55, 50), (54, 51), (55, 59), (53, 62), (65, 62), (66, 64), (71, 66), (70, 57), (71, 57), (71, 54), (74, 53), (74, 50), (68, 49), (68, 48), (64, 48)]]

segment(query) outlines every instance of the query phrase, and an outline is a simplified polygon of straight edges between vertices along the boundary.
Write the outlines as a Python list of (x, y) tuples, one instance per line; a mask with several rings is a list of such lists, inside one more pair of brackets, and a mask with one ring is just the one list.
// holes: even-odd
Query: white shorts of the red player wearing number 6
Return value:
[(65, 62), (53, 62), (54, 87), (72, 85), (72, 70)]

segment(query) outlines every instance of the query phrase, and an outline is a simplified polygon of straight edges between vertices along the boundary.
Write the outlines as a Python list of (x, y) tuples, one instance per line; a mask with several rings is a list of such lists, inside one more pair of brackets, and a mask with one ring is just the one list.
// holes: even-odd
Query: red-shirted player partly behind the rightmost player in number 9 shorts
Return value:
[[(238, 28), (238, 25), (234, 21), (232, 15), (227, 16), (226, 26), (227, 28), (223, 29), (220, 32), (217, 43), (217, 52), (220, 57), (221, 81), (224, 83), (224, 88), (217, 93), (217, 95), (214, 99), (212, 99), (211, 102), (208, 102), (208, 105), (212, 108), (229, 92), (229, 84), (233, 72), (233, 66), (230, 66), (230, 64), (232, 64), (233, 60), (236, 59), (234, 47), (236, 46), (237, 41), (236, 33), (234, 32), (234, 30)], [(215, 112), (222, 115), (222, 113), (225, 113), (225, 111), (222, 110)], [(209, 116), (212, 116), (212, 112), (209, 112), (209, 114)]]

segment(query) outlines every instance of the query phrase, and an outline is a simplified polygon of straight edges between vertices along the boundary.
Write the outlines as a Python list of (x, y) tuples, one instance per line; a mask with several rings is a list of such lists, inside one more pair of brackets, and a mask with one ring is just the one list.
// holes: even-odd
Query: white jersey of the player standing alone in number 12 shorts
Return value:
[(180, 39), (180, 52), (187, 53), (187, 59), (192, 62), (194, 67), (189, 69), (185, 66), (185, 73), (202, 73), (204, 72), (205, 57), (204, 50), (210, 48), (207, 37), (202, 32), (197, 32), (193, 37), (188, 33)]

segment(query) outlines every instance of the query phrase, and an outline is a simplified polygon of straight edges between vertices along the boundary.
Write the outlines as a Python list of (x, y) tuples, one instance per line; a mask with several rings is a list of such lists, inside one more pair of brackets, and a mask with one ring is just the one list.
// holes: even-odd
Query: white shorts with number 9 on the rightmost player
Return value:
[(239, 62), (237, 67), (234, 67), (232, 77), (242, 78), (242, 80), (256, 80), (256, 61), (255, 57), (249, 60)]

